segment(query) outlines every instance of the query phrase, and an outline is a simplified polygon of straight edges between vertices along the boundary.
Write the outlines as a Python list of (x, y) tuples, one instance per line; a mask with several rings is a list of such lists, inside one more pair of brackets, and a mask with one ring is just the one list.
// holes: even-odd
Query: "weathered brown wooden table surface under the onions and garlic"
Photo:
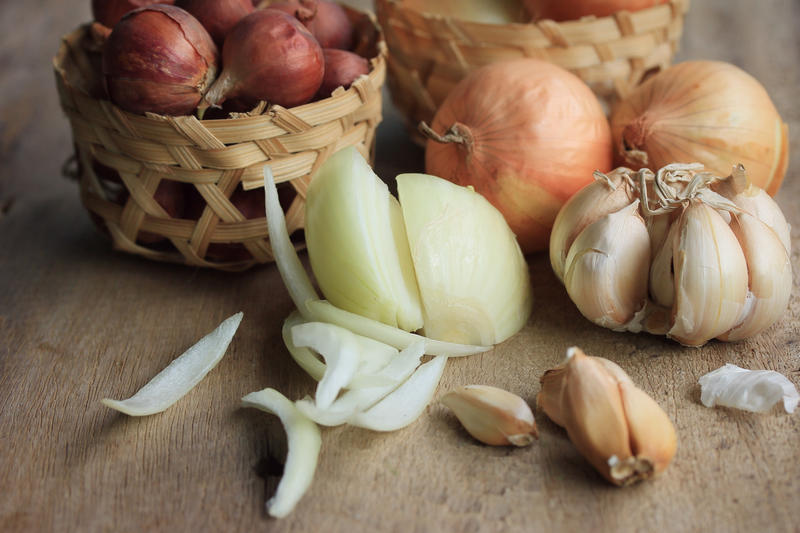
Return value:
[[(292, 305), (276, 269), (228, 274), (111, 251), (60, 175), (71, 135), (50, 66), (89, 1), (5, 0), (0, 13), (0, 531), (800, 531), (798, 413), (706, 409), (697, 386), (726, 362), (800, 385), (797, 281), (765, 333), (688, 349), (592, 326), (543, 254), (529, 258), (528, 325), (449, 362), (439, 393), (487, 383), (533, 403), (539, 376), (577, 344), (618, 362), (674, 421), (678, 453), (661, 478), (609, 486), (538, 411), (534, 445), (482, 446), (433, 403), (395, 433), (325, 429), (311, 490), (288, 518), (269, 518), (285, 438), (277, 419), (239, 400), (314, 386), (281, 343)], [(679, 56), (731, 61), (765, 85), (792, 132), (777, 199), (795, 228), (799, 26), (797, 0), (695, 0)], [(388, 100), (376, 166), (389, 178), (422, 170)], [(99, 403), (132, 394), (240, 310), (225, 358), (172, 409), (128, 418)]]

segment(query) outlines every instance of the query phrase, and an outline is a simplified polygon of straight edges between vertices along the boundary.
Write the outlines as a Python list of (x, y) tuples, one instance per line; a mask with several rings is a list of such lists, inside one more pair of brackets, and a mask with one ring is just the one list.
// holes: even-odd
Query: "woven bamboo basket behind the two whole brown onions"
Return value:
[[(566, 0), (565, 0), (566, 1)], [(481, 24), (420, 13), (402, 0), (375, 0), (389, 47), (388, 85), (409, 133), (430, 124), (447, 94), (472, 70), (518, 57), (560, 65), (592, 88), (608, 111), (645, 77), (670, 65), (689, 0), (608, 17)]]

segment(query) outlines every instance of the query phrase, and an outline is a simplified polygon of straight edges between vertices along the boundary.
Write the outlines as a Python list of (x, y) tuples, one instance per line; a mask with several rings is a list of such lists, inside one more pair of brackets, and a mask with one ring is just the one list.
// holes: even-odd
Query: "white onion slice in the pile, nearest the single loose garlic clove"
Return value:
[(383, 400), (347, 422), (373, 431), (395, 431), (411, 424), (433, 398), (446, 362), (447, 357), (434, 357)]

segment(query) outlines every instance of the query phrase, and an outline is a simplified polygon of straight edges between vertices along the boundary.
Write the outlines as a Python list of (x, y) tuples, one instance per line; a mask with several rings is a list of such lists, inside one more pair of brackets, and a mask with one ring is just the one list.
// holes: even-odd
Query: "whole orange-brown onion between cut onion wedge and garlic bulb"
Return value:
[(482, 67), (442, 103), (433, 130), (456, 126), (463, 142), (429, 139), (425, 168), (471, 185), (506, 218), (525, 253), (544, 250), (559, 209), (611, 168), (608, 121), (577, 76), (538, 59)]

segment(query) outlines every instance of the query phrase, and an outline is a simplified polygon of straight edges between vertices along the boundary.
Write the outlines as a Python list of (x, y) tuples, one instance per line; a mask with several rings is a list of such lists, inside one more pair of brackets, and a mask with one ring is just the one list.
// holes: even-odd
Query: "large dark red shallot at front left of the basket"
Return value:
[(217, 47), (183, 9), (154, 5), (132, 11), (103, 48), (111, 101), (132, 113), (188, 115), (217, 71)]

